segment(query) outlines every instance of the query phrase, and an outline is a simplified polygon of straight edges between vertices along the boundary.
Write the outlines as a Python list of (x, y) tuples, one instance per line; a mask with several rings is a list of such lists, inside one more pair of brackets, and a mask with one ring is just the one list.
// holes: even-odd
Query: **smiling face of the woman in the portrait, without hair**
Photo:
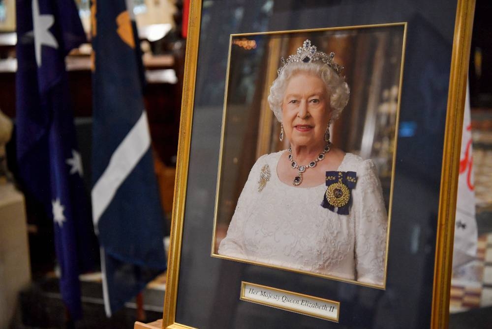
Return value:
[(292, 146), (324, 146), (330, 100), (324, 82), (306, 73), (292, 76), (282, 101), (282, 124)]

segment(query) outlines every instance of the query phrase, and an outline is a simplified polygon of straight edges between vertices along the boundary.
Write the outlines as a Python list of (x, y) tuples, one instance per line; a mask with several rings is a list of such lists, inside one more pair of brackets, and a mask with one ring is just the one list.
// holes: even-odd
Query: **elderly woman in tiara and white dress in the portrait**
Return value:
[(381, 286), (381, 184), (371, 160), (330, 143), (330, 124), (350, 94), (333, 57), (306, 40), (282, 58), (268, 102), (290, 148), (253, 165), (218, 253)]

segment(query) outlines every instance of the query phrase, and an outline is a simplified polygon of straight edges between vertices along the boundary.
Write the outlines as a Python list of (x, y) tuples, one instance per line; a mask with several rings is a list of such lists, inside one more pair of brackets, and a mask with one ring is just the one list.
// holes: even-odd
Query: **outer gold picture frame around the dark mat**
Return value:
[[(449, 295), (451, 280), (452, 246), (454, 235), (454, 216), (458, 185), (458, 164), (460, 158), (463, 105), (465, 100), (466, 76), (471, 43), (471, 28), (473, 23), (474, 0), (458, 0), (454, 12), (455, 25), (449, 68), (449, 86), (447, 96), (446, 122), (443, 134), (442, 165), (440, 171), (440, 188), (438, 192), (438, 214), (435, 234), (435, 255), (431, 314), (431, 328), (447, 327), (449, 316)], [(202, 1), (190, 0), (188, 38), (186, 44), (186, 59), (184, 69), (184, 88), (180, 124), (180, 139), (177, 158), (175, 181), (175, 197), (167, 286), (164, 299), (163, 328), (200, 328), (190, 324), (180, 323), (176, 314), (178, 311), (178, 285), (182, 261), (184, 237), (184, 213), (186, 208), (186, 192), (188, 190), (188, 171), (190, 168), (190, 150), (192, 143), (191, 128), (193, 123), (193, 107), (195, 102), (195, 83), (198, 68), (198, 49), (200, 44), (200, 28), (202, 26)], [(230, 33), (233, 34), (233, 33)], [(211, 220), (211, 219), (207, 219)], [(187, 246), (191, 248), (192, 246)], [(203, 284), (207, 284), (203, 282)], [(231, 294), (239, 298), (238, 289), (232, 289)], [(343, 305), (343, 303), (342, 303)], [(181, 310), (183, 312), (184, 310)], [(268, 316), (268, 311), (265, 311)], [(343, 323), (343, 315), (340, 324)], [(204, 324), (205, 325), (205, 324)], [(209, 325), (209, 324), (207, 324)]]

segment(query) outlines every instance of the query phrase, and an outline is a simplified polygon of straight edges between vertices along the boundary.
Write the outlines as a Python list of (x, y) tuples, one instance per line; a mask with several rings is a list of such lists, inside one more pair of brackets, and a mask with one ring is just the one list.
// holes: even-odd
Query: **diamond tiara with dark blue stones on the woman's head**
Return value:
[(280, 75), (283, 69), (290, 63), (312, 63), (320, 61), (331, 67), (338, 75), (340, 75), (341, 70), (343, 70), (343, 66), (335, 63), (333, 61), (333, 57), (335, 57), (335, 53), (330, 53), (330, 55), (327, 55), (326, 53), (318, 52), (316, 46), (311, 45), (310, 40), (306, 40), (304, 41), (303, 46), (297, 49), (297, 54), (289, 55), (287, 59), (283, 57), (280, 59), (282, 61), (282, 66), (278, 68), (277, 73)]

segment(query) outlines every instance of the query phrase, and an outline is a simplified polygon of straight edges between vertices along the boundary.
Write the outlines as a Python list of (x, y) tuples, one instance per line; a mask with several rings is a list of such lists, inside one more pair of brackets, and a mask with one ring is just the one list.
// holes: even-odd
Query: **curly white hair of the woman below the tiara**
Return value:
[(343, 77), (338, 76), (332, 68), (321, 62), (289, 63), (279, 74), (270, 87), (268, 104), (278, 122), (282, 122), (282, 101), (290, 78), (299, 73), (307, 73), (319, 77), (326, 86), (330, 96), (330, 107), (333, 110), (332, 121), (336, 120), (348, 103), (350, 89)]

